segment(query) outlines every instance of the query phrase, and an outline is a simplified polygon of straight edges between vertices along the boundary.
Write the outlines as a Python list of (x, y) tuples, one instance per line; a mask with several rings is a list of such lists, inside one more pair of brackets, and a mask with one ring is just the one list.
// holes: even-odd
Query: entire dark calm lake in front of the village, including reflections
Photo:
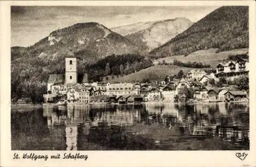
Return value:
[(249, 103), (44, 105), (11, 114), (12, 150), (249, 150)]

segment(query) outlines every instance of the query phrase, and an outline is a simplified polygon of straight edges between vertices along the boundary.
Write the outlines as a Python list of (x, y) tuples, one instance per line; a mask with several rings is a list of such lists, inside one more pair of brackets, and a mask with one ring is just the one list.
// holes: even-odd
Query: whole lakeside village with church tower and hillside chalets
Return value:
[(215, 87), (220, 78), (233, 80), (248, 75), (249, 61), (239, 59), (218, 64), (216, 73), (189, 70), (181, 78), (166, 76), (165, 80), (152, 83), (89, 82), (84, 74), (82, 83), (77, 82), (77, 61), (66, 58), (66, 73), (50, 74), (47, 84), (46, 103), (80, 104), (140, 104), (143, 102), (229, 102), (248, 101), (248, 92), (233, 87)]

